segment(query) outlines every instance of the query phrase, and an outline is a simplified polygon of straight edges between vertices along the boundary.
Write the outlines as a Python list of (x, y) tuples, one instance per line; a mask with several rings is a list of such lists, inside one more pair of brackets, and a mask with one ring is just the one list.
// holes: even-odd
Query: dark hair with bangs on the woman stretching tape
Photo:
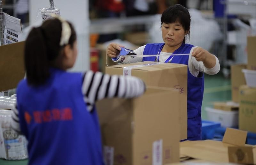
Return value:
[[(191, 17), (188, 9), (180, 4), (170, 6), (163, 12), (161, 16), (161, 25), (163, 25), (163, 23), (169, 24), (175, 22), (179, 22), (185, 32), (188, 32), (189, 36)], [(185, 41), (186, 39), (184, 38), (183, 43), (185, 43)]]

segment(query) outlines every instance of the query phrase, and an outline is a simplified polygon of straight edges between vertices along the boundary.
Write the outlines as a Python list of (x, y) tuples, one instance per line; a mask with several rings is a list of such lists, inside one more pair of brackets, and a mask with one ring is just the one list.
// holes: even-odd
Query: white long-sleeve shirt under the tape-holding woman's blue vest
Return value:
[[(143, 55), (145, 46), (141, 46), (138, 49), (135, 49), (134, 52), (137, 55)], [(197, 46), (194, 46), (189, 53), (189, 58), (188, 58), (188, 70), (190, 71), (190, 73), (195, 76), (198, 77), (199, 72), (203, 72), (209, 75), (214, 75), (217, 74), (220, 71), (220, 63), (219, 63), (219, 59), (215, 56), (216, 58), (216, 64), (213, 68), (206, 68), (204, 66), (204, 63), (202, 61), (196, 61), (196, 58), (192, 56), (192, 52), (193, 49), (197, 48)], [(166, 55), (166, 56), (159, 56), (159, 62), (165, 62), (171, 55), (172, 53), (166, 53), (166, 52), (160, 52), (160, 55)], [(168, 56), (170, 55), (170, 56)], [(169, 62), (172, 61), (172, 58), (170, 59)], [(142, 57), (134, 57), (132, 58), (131, 56), (123, 56), (122, 59), (122, 64), (130, 64), (130, 63), (137, 63), (137, 62), (142, 62)]]

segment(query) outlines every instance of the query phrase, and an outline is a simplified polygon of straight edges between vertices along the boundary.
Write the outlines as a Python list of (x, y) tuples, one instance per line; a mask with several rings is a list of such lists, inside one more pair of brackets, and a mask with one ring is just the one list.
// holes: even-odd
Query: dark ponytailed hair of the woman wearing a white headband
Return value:
[[(76, 32), (69, 23), (71, 36), (68, 44), (73, 48)], [(46, 20), (42, 26), (33, 28), (25, 42), (25, 69), (29, 85), (43, 84), (50, 76), (50, 62), (54, 61), (64, 46), (60, 46), (62, 23), (59, 19)]]

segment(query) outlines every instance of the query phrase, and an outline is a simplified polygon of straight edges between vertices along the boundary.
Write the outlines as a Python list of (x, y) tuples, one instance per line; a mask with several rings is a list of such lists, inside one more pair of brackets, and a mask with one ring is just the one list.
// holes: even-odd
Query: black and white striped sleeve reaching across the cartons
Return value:
[(83, 75), (82, 93), (89, 111), (95, 102), (104, 98), (132, 98), (143, 94), (144, 82), (136, 77), (108, 75), (101, 72), (87, 71)]

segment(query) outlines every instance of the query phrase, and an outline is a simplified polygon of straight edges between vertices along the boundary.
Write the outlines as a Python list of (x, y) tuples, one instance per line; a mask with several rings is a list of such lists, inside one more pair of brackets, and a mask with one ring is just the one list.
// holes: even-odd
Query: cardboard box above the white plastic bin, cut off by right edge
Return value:
[(256, 36), (247, 37), (247, 54), (248, 65), (247, 69), (256, 70)]

